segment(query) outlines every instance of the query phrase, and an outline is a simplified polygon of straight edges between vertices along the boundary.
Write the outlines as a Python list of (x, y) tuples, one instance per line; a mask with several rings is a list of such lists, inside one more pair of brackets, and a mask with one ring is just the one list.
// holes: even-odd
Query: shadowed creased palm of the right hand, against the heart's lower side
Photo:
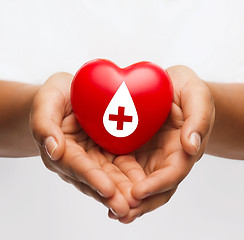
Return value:
[[(190, 158), (180, 142), (181, 128), (184, 123), (183, 112), (175, 102), (171, 113), (155, 136), (135, 152), (135, 156), (147, 175), (166, 167), (179, 168), (179, 164)], [(189, 170), (193, 162), (188, 161)]]

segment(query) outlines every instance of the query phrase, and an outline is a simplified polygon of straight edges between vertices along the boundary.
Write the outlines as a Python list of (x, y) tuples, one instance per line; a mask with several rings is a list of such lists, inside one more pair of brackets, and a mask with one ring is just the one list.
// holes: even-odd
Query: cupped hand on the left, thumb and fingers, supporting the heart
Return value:
[[(123, 217), (140, 200), (131, 195), (131, 180), (112, 164), (115, 156), (96, 145), (77, 123), (70, 103), (72, 78), (57, 73), (40, 88), (30, 116), (33, 136), (48, 169)], [(135, 179), (144, 177), (139, 169)]]

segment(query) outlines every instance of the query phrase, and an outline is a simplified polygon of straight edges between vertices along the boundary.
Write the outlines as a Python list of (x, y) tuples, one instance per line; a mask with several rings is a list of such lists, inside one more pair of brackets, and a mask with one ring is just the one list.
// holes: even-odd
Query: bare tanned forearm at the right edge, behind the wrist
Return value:
[(244, 159), (244, 84), (206, 83), (215, 101), (216, 120), (206, 153)]

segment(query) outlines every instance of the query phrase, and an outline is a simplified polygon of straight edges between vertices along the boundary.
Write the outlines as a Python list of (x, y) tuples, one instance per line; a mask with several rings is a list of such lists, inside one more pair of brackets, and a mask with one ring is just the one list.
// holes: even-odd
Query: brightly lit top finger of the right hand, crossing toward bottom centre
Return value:
[(194, 158), (183, 150), (174, 152), (165, 159), (161, 169), (133, 186), (132, 195), (137, 199), (144, 199), (175, 188), (189, 173), (194, 162)]

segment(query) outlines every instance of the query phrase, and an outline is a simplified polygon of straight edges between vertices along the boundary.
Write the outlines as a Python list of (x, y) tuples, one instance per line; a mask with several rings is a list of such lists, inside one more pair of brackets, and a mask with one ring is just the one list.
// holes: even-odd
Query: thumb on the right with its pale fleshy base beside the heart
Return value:
[(175, 89), (176, 101), (183, 111), (181, 144), (191, 155), (198, 153), (214, 121), (214, 103), (208, 87), (189, 68), (167, 69)]

